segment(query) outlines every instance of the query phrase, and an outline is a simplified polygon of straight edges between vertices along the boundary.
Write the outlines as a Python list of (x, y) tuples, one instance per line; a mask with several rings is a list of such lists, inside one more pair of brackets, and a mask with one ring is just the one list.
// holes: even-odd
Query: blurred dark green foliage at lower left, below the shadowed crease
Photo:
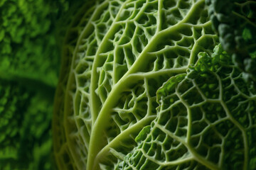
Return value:
[(1, 79), (0, 169), (53, 169), (53, 94), (48, 86), (31, 91), (15, 80)]

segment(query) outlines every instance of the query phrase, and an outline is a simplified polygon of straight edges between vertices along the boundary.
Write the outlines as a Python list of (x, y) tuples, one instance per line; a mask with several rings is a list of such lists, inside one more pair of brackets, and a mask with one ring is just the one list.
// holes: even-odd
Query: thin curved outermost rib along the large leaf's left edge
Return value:
[[(107, 4), (106, 2), (105, 3), (102, 3), (101, 4), (101, 6), (104, 6), (104, 4)], [(100, 10), (100, 7), (101, 6), (99, 6), (99, 8), (97, 8), (97, 10)], [(90, 20), (87, 22), (87, 24), (86, 24), (86, 26), (85, 26), (85, 28), (82, 30), (82, 33), (80, 34), (80, 37), (78, 38), (78, 42), (77, 42), (77, 44), (76, 44), (76, 46), (75, 46), (75, 50), (73, 51), (73, 56), (72, 56), (72, 62), (71, 62), (71, 67), (70, 67), (70, 72), (69, 72), (69, 75), (68, 75), (68, 83), (67, 83), (67, 86), (66, 86), (66, 89), (65, 89), (65, 91), (66, 91), (66, 93), (65, 93), (65, 97), (64, 97), (64, 118), (63, 118), (63, 120), (64, 120), (64, 122), (63, 122), (63, 126), (64, 126), (64, 131), (65, 131), (65, 136), (67, 137), (66, 139), (66, 142), (67, 142), (67, 147), (69, 148), (69, 150), (70, 150), (70, 154), (72, 155), (72, 157), (76, 157), (76, 154), (75, 154), (75, 150), (74, 149), (72, 149), (72, 148), (70, 148), (70, 146), (71, 145), (73, 145), (73, 143), (72, 142), (70, 142), (70, 140), (69, 140), (69, 134), (68, 134), (68, 125), (67, 125), (67, 122), (68, 122), (68, 113), (67, 113), (67, 110), (68, 110), (68, 107), (69, 107), (69, 104), (67, 104), (67, 103), (69, 103), (70, 102), (70, 93), (69, 93), (69, 89), (70, 89), (70, 86), (72, 86), (72, 84), (73, 84), (73, 81), (71, 81), (72, 79), (70, 79), (71, 77), (73, 77), (73, 76), (75, 76), (75, 75), (73, 75), (74, 74), (74, 72), (73, 72), (73, 66), (74, 66), (74, 63), (75, 63), (75, 55), (77, 54), (77, 52), (78, 52), (78, 50), (79, 50), (79, 45), (80, 45), (80, 43), (81, 43), (81, 41), (82, 41), (82, 38), (83, 38), (83, 35), (85, 35), (85, 33), (87, 33), (87, 31), (88, 31), (88, 29), (90, 30), (90, 29), (92, 29), (92, 28), (90, 28), (90, 27), (92, 27), (92, 25), (90, 24), (91, 23), (91, 21), (92, 21), (92, 19), (94, 18), (94, 17), (96, 17), (95, 16), (95, 14), (97, 13), (97, 10), (95, 10), (93, 13), (92, 13), (92, 16), (90, 17)], [(75, 166), (78, 168), (78, 169), (83, 169), (82, 167), (81, 167), (81, 165), (80, 165), (80, 163), (78, 162), (78, 160), (77, 159), (73, 159), (73, 162), (74, 162), (74, 164), (75, 164)], [(74, 165), (73, 164), (73, 165)], [(85, 162), (85, 164), (86, 164), (86, 162)]]

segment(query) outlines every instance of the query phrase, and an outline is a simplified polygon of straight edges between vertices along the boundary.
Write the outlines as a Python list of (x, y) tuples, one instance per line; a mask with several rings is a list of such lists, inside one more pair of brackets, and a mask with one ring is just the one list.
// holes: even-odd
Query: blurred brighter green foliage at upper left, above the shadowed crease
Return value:
[[(49, 2), (1, 1), (0, 71), (55, 86), (60, 58), (53, 32), (58, 12)], [(6, 75), (9, 77), (9, 75)]]

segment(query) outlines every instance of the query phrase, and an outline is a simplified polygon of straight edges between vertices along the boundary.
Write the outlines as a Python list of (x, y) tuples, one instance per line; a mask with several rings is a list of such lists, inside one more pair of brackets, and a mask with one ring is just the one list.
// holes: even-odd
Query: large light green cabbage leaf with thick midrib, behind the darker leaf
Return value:
[(55, 157), (59, 169), (114, 169), (156, 118), (157, 89), (199, 52), (211, 54), (218, 38), (203, 0), (85, 6), (94, 7), (78, 16), (63, 50)]

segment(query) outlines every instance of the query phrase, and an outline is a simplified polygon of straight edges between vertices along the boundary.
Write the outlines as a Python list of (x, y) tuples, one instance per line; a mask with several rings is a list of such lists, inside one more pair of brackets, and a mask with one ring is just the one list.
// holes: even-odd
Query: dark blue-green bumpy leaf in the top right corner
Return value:
[(256, 82), (256, 1), (206, 0), (213, 28), (233, 62)]

